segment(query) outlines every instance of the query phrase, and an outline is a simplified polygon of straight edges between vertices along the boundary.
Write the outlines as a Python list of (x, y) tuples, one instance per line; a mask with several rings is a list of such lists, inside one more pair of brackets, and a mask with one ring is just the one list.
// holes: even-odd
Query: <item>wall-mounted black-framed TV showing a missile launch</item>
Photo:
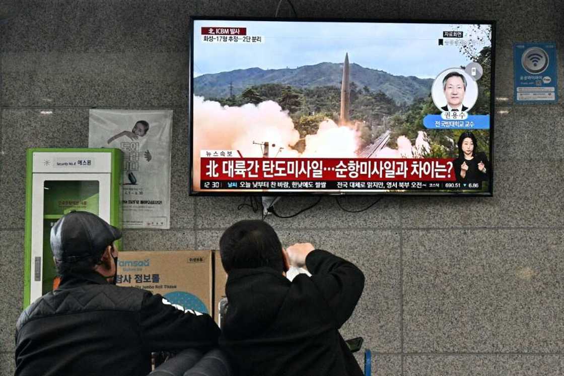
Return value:
[(193, 18), (191, 194), (492, 195), (494, 27)]

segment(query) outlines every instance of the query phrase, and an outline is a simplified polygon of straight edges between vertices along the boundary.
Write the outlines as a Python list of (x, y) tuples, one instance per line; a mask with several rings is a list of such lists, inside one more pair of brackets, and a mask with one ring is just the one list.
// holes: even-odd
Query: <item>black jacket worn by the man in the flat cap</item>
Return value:
[(98, 273), (63, 278), (16, 324), (16, 376), (131, 375), (151, 371), (152, 351), (217, 344), (207, 314), (184, 313), (160, 295), (109, 285)]

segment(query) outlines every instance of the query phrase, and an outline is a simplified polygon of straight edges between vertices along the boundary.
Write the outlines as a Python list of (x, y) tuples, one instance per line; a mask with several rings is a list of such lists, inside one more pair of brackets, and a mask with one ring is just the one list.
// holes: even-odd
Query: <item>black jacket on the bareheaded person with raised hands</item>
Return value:
[(241, 376), (360, 376), (338, 329), (364, 288), (362, 272), (327, 251), (306, 259), (312, 277), (271, 268), (232, 270), (220, 346)]

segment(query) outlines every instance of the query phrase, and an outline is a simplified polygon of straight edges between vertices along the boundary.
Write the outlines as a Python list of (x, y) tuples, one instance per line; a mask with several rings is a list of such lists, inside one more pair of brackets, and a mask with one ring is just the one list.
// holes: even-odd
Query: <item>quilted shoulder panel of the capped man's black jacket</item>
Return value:
[(151, 293), (135, 287), (85, 285), (48, 292), (29, 305), (16, 323), (19, 330), (35, 318), (96, 310), (139, 311)]

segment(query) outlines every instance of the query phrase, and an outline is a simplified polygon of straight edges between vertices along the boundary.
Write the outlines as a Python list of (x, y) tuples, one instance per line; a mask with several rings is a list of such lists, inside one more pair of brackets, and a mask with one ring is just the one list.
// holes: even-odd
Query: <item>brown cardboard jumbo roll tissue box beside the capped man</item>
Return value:
[(211, 251), (120, 252), (116, 282), (211, 316), (212, 256)]

